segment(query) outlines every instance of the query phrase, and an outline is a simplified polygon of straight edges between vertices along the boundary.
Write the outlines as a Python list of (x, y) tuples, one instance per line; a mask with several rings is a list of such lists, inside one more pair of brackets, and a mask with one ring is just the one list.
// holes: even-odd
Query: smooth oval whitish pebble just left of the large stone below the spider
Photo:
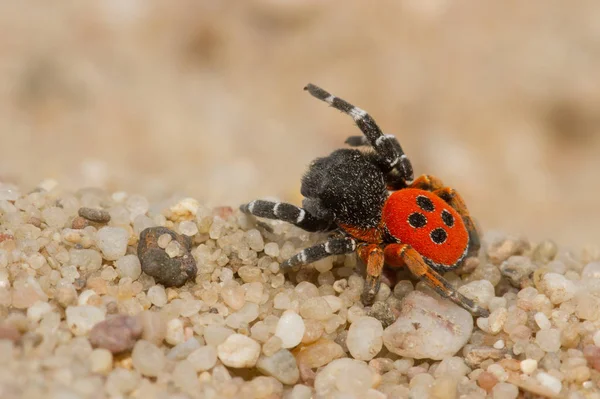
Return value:
[(346, 345), (355, 359), (373, 359), (383, 347), (383, 327), (379, 320), (365, 316), (352, 323)]

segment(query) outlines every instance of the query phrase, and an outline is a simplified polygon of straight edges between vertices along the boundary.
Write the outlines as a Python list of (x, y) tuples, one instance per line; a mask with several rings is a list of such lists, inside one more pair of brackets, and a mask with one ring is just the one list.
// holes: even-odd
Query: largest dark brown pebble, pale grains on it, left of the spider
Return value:
[[(171, 258), (164, 249), (158, 246), (158, 237), (169, 234), (179, 243), (182, 255)], [(138, 257), (142, 271), (154, 277), (158, 284), (165, 287), (181, 287), (189, 279), (196, 277), (196, 261), (190, 253), (192, 240), (190, 237), (177, 234), (166, 227), (149, 227), (140, 234)]]

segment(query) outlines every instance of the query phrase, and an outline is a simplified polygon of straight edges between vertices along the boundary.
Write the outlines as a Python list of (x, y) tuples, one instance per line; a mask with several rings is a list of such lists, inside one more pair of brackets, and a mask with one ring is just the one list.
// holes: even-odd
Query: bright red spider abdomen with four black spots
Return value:
[(394, 237), (411, 245), (428, 263), (452, 267), (469, 246), (460, 215), (429, 191), (395, 191), (384, 205), (383, 220)]

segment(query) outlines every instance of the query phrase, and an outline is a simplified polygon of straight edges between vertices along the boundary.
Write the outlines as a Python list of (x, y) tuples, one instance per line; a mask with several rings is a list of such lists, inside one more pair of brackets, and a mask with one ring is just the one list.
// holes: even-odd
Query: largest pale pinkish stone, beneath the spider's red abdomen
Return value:
[(413, 291), (402, 302), (396, 322), (386, 328), (383, 341), (397, 355), (441, 360), (462, 348), (473, 331), (473, 317), (445, 299)]

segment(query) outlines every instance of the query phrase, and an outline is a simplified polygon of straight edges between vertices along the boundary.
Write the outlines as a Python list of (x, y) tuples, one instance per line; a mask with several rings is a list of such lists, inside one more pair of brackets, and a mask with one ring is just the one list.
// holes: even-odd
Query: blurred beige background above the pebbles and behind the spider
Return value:
[(0, 179), (213, 205), (279, 196), (358, 130), (396, 134), (484, 229), (600, 244), (600, 3), (0, 3)]

